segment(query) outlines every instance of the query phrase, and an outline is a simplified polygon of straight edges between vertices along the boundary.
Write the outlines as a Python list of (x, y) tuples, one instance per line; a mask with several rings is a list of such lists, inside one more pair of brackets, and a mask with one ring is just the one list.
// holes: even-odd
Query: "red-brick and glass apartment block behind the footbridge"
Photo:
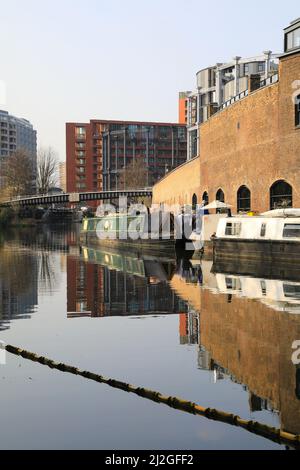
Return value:
[(187, 159), (186, 125), (180, 124), (67, 123), (66, 144), (68, 192), (121, 189), (121, 173), (137, 159), (144, 162), (151, 186)]

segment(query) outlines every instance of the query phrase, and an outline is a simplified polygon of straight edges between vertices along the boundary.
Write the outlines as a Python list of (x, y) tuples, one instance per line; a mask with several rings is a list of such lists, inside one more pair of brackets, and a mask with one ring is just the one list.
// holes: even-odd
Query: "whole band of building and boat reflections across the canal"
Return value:
[(195, 369), (209, 374), (210, 392), (227, 384), (230, 394), (239, 384), (251, 416), (273, 413), (284, 430), (300, 433), (300, 367), (292, 363), (300, 340), (297, 269), (153, 259), (81, 247), (71, 229), (18, 231), (0, 246), (0, 329), (29, 319), (63, 275), (69, 328), (80, 317), (177, 314), (178, 342), (197, 347)]

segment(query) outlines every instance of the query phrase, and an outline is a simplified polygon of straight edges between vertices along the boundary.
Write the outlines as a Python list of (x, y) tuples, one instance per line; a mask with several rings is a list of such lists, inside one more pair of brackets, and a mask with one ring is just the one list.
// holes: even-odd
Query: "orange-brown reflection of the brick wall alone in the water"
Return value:
[(215, 363), (247, 385), (252, 410), (267, 400), (280, 411), (282, 428), (298, 434), (300, 400), (292, 344), (300, 338), (299, 315), (209, 290), (202, 290), (201, 297), (202, 346)]

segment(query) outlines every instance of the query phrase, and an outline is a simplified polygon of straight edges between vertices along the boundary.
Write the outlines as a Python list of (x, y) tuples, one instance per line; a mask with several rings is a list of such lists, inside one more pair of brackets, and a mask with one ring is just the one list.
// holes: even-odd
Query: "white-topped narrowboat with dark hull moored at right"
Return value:
[(300, 209), (220, 219), (213, 244), (215, 259), (299, 262)]

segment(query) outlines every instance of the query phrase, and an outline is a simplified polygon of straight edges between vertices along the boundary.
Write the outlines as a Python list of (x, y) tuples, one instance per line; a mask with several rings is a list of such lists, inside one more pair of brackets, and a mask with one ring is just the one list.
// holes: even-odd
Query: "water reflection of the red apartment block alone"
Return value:
[(68, 259), (68, 315), (92, 317), (186, 311), (166, 282), (152, 282), (101, 265)]

